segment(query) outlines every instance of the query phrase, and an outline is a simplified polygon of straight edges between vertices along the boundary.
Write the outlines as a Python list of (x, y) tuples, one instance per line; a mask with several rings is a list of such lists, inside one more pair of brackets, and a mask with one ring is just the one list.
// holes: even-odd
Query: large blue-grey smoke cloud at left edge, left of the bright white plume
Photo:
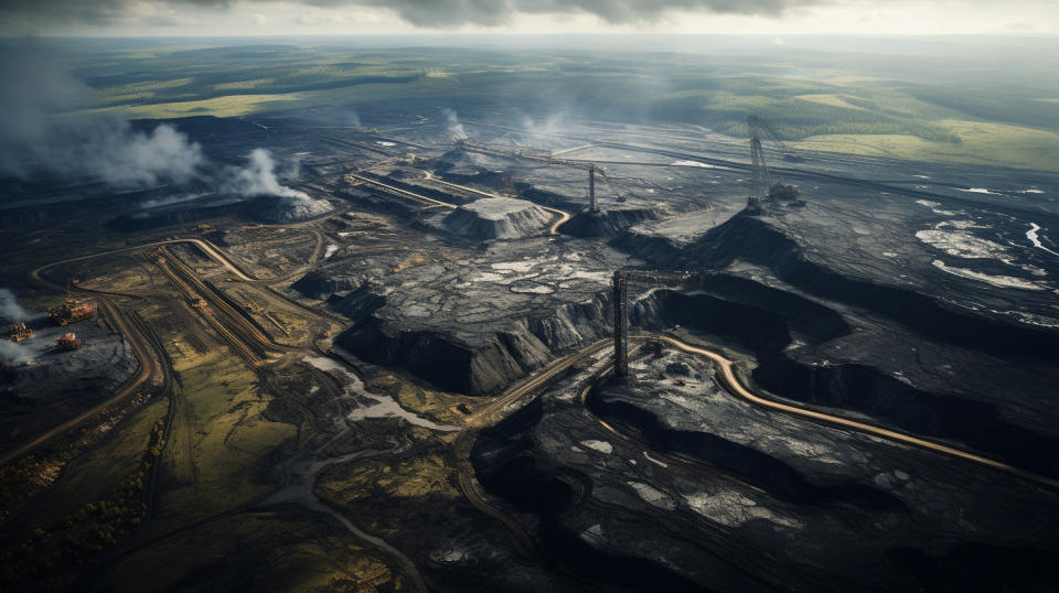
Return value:
[(92, 91), (30, 47), (0, 54), (0, 173), (87, 176), (119, 187), (193, 179), (199, 144), (171, 126), (133, 130), (114, 115), (61, 115), (89, 105)]

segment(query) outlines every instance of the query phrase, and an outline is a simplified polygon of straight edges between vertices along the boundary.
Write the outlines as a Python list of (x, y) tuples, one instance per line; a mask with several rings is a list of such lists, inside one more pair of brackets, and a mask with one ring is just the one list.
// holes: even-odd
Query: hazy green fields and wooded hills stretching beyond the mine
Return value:
[(98, 91), (93, 110), (135, 118), (422, 100), (688, 122), (741, 137), (757, 115), (805, 149), (1059, 170), (1059, 76), (1039, 67), (924, 60), (898, 78), (885, 61), (813, 54), (795, 66), (781, 57), (307, 42), (89, 52), (77, 72)]

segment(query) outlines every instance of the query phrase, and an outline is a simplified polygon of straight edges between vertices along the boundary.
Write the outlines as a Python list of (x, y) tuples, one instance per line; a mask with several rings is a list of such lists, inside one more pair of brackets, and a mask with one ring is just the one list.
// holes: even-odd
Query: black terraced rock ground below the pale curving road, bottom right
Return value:
[[(688, 376), (660, 376), (674, 365)], [(472, 450), (483, 487), (535, 515), (542, 545), (582, 573), (665, 591), (1055, 582), (1056, 538), (1039, 520), (1055, 493), (769, 413), (730, 397), (700, 358), (645, 354), (632, 370), (585, 406), (567, 396), (581, 376), (560, 381)], [(1013, 550), (1023, 570), (1010, 570)]]

